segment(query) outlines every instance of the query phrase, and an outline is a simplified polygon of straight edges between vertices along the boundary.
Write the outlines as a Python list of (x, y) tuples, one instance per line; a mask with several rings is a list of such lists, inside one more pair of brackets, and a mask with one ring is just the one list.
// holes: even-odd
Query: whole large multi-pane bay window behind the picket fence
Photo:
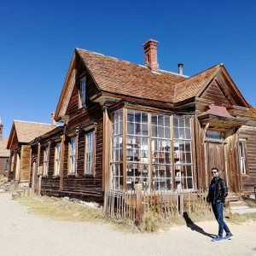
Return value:
[(193, 189), (191, 118), (127, 109), (124, 119), (122, 109), (113, 113), (111, 188)]

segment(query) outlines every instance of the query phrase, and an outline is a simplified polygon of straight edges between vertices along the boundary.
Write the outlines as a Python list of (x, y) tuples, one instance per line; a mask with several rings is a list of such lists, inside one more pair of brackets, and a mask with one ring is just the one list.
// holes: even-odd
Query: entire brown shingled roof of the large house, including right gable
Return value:
[(236, 95), (241, 105), (249, 108), (248, 103), (237, 89), (222, 63), (186, 77), (177, 73), (152, 72), (148, 67), (128, 61), (98, 54), (85, 49), (75, 49), (67, 78), (61, 91), (55, 117), (60, 119), (66, 113), (75, 78), (75, 62), (81, 60), (90, 73), (99, 91), (113, 96), (134, 96), (158, 102), (177, 103), (192, 97), (200, 97), (216, 77), (228, 81), (230, 91)]

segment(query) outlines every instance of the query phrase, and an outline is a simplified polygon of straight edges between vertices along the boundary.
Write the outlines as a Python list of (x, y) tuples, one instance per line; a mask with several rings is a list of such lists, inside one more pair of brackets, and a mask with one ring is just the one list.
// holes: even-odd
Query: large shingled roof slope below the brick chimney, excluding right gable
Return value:
[(103, 91), (173, 102), (175, 84), (187, 79), (185, 76), (163, 70), (155, 73), (148, 67), (89, 50), (76, 50)]

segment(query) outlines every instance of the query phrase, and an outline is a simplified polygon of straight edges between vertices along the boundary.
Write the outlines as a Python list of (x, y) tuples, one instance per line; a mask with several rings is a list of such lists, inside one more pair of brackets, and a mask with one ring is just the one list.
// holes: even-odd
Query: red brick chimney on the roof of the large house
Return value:
[(154, 39), (149, 39), (145, 44), (143, 44), (145, 65), (152, 71), (159, 71), (159, 65), (157, 62), (157, 44), (158, 42)]

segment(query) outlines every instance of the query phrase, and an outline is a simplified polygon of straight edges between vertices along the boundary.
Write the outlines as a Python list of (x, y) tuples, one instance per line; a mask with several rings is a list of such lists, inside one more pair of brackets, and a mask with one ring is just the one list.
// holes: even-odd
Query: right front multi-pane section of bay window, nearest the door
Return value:
[(190, 118), (173, 116), (173, 150), (177, 189), (193, 189)]

